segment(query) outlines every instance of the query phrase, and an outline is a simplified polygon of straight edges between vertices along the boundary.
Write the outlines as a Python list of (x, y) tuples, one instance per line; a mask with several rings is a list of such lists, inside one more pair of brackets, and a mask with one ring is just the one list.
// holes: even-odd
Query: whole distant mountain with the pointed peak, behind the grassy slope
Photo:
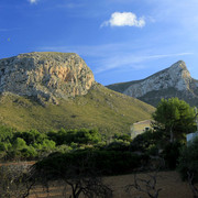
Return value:
[(191, 106), (198, 106), (198, 80), (191, 78), (183, 61), (145, 79), (107, 87), (152, 106), (156, 106), (162, 98), (170, 97), (178, 97)]

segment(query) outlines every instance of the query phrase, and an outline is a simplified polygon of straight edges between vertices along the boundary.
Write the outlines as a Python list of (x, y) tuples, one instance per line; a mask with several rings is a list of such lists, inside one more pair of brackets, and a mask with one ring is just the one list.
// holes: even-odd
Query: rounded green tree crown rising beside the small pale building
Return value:
[(178, 98), (162, 99), (153, 113), (153, 127), (165, 132), (170, 142), (183, 140), (184, 134), (194, 132), (196, 113), (184, 100)]

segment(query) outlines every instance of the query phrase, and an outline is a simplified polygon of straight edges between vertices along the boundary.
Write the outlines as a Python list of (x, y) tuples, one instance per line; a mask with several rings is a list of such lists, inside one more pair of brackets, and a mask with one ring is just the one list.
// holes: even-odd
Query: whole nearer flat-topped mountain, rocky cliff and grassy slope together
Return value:
[(154, 111), (95, 81), (73, 53), (28, 53), (0, 59), (0, 124), (18, 130), (98, 128), (129, 132)]

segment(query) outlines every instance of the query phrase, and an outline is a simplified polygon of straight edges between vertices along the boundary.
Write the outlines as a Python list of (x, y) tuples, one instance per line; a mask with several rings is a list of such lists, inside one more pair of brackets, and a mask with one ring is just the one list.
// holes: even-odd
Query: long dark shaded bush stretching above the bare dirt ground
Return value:
[(81, 166), (85, 160), (88, 160), (89, 166), (98, 169), (102, 175), (119, 175), (131, 173), (140, 167), (143, 161), (147, 161), (146, 155), (138, 155), (131, 152), (120, 151), (76, 151), (72, 153), (55, 153), (41, 161), (37, 165), (53, 166), (58, 172), (65, 172), (65, 167)]

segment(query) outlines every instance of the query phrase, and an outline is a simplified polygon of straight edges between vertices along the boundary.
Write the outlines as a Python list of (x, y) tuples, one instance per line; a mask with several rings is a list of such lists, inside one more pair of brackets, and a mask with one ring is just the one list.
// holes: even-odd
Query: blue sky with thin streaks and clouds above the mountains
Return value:
[(198, 0), (1, 0), (0, 58), (75, 52), (102, 85), (183, 59), (198, 79)]

